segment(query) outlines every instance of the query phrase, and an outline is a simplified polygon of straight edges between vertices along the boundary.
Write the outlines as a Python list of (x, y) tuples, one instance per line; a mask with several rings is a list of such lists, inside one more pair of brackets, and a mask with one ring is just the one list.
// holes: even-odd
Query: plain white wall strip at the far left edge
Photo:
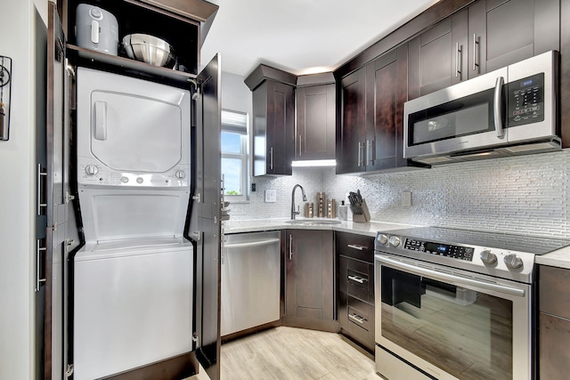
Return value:
[(10, 140), (0, 141), (0, 379), (31, 379), (36, 362), (34, 24), (37, 12), (46, 20), (47, 7), (45, 0), (0, 0), (0, 9), (0, 55), (12, 58)]

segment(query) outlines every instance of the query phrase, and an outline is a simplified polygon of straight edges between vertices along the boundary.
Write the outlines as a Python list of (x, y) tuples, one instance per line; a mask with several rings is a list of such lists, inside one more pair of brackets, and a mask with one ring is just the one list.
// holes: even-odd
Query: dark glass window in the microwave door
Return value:
[(412, 113), (410, 145), (492, 131), (494, 89)]

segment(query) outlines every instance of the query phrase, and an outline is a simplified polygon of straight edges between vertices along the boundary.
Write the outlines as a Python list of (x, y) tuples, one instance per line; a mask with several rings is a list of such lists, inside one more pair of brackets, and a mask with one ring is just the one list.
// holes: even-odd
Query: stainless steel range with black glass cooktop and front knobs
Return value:
[(391, 380), (533, 378), (534, 256), (568, 245), (433, 227), (379, 232), (379, 374)]

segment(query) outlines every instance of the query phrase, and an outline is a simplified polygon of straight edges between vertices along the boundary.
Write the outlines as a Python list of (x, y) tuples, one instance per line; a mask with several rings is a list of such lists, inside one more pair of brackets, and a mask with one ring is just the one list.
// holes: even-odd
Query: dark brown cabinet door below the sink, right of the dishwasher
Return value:
[(285, 250), (283, 325), (335, 330), (332, 231), (287, 230)]

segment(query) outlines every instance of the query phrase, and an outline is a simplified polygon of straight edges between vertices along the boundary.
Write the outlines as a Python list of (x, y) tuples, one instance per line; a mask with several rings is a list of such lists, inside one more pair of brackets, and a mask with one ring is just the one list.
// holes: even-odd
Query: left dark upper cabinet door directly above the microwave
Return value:
[(468, 12), (457, 12), (410, 41), (409, 97), (467, 79)]

